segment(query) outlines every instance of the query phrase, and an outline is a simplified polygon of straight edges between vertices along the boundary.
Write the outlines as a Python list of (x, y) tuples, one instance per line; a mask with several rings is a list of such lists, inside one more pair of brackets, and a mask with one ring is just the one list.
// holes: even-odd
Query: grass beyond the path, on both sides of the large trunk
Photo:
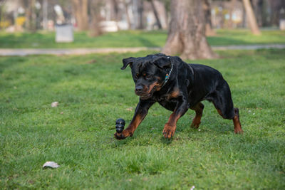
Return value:
[[(55, 33), (0, 32), (0, 48), (121, 48), (164, 46), (167, 31), (119, 31), (90, 38), (87, 33), (75, 33), (73, 43), (56, 43)], [(212, 46), (285, 43), (285, 31), (262, 31), (253, 36), (248, 30), (217, 30), (208, 37)]]

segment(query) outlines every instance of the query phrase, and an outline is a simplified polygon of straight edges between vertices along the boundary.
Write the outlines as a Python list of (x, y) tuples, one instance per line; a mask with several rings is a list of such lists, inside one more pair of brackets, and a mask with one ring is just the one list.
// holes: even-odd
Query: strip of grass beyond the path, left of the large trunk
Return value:
[(119, 31), (91, 38), (74, 33), (73, 43), (56, 43), (55, 33), (0, 33), (0, 48), (125, 48), (163, 46), (166, 31)]

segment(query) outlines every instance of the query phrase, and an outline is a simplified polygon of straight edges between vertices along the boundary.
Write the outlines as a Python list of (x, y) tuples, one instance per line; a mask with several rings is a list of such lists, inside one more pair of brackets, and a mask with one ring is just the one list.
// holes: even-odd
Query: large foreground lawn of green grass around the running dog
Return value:
[[(172, 141), (170, 111), (154, 105), (133, 137), (113, 138), (138, 97), (122, 58), (0, 57), (1, 189), (284, 189), (285, 51), (221, 51), (217, 68), (240, 110), (243, 135), (209, 102), (199, 130), (189, 110)], [(51, 102), (58, 101), (58, 107)], [(41, 169), (46, 161), (61, 165)]]

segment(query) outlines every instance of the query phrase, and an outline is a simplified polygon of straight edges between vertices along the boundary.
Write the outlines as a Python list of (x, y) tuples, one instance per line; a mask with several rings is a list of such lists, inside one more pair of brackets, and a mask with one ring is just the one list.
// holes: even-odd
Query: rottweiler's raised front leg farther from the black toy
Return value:
[(175, 130), (176, 130), (176, 123), (180, 117), (182, 117), (185, 112), (188, 110), (188, 102), (185, 99), (182, 99), (180, 102), (177, 103), (177, 107), (175, 108), (174, 112), (170, 115), (168, 122), (165, 124), (165, 128), (162, 131), (163, 136), (165, 138), (170, 139), (173, 137)]

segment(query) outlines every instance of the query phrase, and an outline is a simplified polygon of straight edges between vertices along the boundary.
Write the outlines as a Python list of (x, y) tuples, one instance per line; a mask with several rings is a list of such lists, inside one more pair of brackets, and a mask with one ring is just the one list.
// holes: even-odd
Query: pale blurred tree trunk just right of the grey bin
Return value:
[(88, 30), (88, 0), (73, 0), (72, 2), (78, 30)]

